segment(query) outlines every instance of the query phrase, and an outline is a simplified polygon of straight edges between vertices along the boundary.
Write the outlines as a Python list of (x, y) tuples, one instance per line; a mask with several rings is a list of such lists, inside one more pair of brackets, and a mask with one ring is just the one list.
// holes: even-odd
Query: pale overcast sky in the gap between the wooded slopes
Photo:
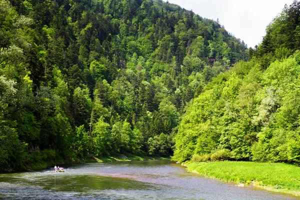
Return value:
[[(166, 0), (164, 0), (166, 1)], [(261, 43), (266, 26), (292, 0), (168, 0), (202, 17), (216, 20), (248, 47)]]

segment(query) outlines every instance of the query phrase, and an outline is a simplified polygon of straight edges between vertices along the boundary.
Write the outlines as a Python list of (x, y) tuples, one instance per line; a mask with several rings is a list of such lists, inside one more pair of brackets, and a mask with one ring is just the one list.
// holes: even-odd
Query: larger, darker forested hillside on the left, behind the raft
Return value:
[(172, 154), (190, 99), (247, 58), (217, 21), (161, 0), (0, 0), (1, 170)]

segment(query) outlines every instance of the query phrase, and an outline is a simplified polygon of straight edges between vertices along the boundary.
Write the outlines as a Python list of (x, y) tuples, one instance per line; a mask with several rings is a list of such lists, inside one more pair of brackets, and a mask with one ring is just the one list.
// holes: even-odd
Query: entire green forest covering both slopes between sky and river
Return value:
[(162, 0), (0, 0), (0, 166), (298, 162), (300, 3), (255, 48)]

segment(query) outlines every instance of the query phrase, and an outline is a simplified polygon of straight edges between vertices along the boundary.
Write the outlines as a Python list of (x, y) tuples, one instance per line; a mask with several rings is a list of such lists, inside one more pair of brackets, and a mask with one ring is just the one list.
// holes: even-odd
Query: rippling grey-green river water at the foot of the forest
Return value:
[(297, 199), (187, 172), (166, 160), (85, 163), (1, 173), (0, 199)]

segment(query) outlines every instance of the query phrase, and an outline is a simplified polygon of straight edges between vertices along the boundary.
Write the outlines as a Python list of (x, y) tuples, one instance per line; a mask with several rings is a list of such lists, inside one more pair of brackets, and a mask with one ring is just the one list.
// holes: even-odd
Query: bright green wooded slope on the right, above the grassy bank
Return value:
[(231, 158), (300, 163), (300, 2), (262, 43), (192, 100), (175, 136), (179, 161)]

